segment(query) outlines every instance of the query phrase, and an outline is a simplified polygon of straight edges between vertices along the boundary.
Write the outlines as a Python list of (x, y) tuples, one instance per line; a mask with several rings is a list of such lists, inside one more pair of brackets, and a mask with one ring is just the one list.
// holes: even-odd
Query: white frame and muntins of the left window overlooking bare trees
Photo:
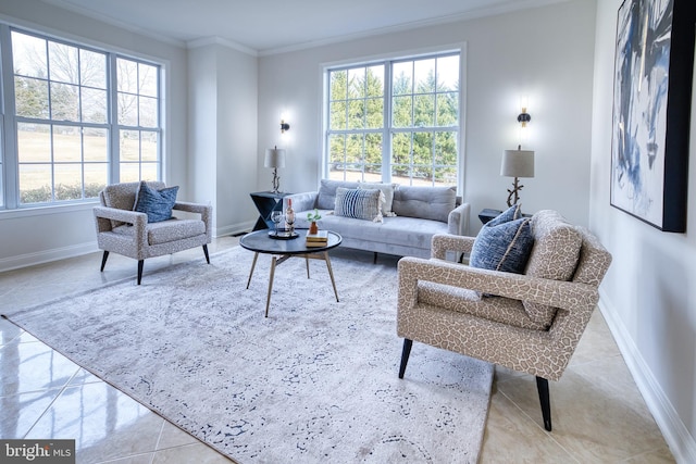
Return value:
[[(18, 165), (20, 165), (20, 154), (18, 154), (18, 139), (17, 133), (20, 129), (21, 123), (26, 121), (26, 117), (18, 116), (16, 114), (16, 101), (15, 101), (15, 81), (14, 81), (14, 63), (12, 57), (12, 33), (18, 33), (28, 35), (32, 37), (37, 37), (41, 40), (46, 40), (48, 43), (57, 42), (60, 45), (66, 45), (69, 47), (75, 47), (78, 50), (84, 50), (86, 52), (96, 52), (104, 55), (105, 60), (105, 92), (107, 92), (107, 117), (105, 123), (91, 123), (86, 121), (84, 117), (79, 117), (79, 121), (63, 121), (63, 120), (54, 120), (52, 115), (45, 120), (37, 120), (40, 124), (46, 124), (48, 127), (53, 126), (71, 126), (78, 127), (80, 134), (80, 142), (83, 139), (83, 131), (86, 128), (99, 127), (104, 128), (107, 131), (105, 135), (105, 162), (107, 165), (107, 179), (105, 184), (114, 184), (119, 183), (121, 179), (120, 174), (120, 164), (121, 164), (121, 150), (119, 147), (119, 135), (121, 130), (136, 130), (139, 133), (153, 133), (156, 147), (154, 147), (154, 155), (151, 156), (154, 161), (151, 164), (156, 165), (153, 172), (156, 172), (156, 179), (162, 180), (164, 178), (164, 166), (165, 166), (165, 155), (164, 155), (164, 137), (165, 137), (165, 124), (164, 124), (164, 76), (166, 70), (166, 62), (162, 60), (148, 58), (148, 57), (137, 57), (135, 54), (129, 54), (127, 52), (116, 50), (115, 48), (107, 49), (104, 47), (98, 47), (87, 43), (85, 40), (76, 40), (76, 39), (65, 39), (61, 37), (57, 37), (54, 35), (46, 34), (42, 32), (32, 30), (26, 27), (15, 26), (5, 22), (0, 22), (0, 83), (2, 85), (2, 91), (0, 92), (0, 214), (3, 217), (12, 217), (16, 214), (26, 212), (27, 210), (36, 211), (36, 210), (54, 210), (60, 208), (64, 211), (66, 210), (82, 210), (84, 208), (91, 208), (96, 202), (99, 201), (98, 197), (85, 197), (86, 183), (84, 181), (85, 170), (86, 166), (89, 165), (89, 162), (86, 162), (84, 159), (84, 142), (80, 143), (80, 159), (79, 162), (75, 162), (75, 164), (79, 164), (80, 172), (80, 186), (82, 186), (82, 197), (80, 199), (70, 199), (70, 200), (55, 200), (55, 180), (53, 179), (53, 175), (51, 175), (51, 199), (45, 202), (21, 202), (21, 185), (18, 177)], [(127, 60), (129, 62), (135, 62), (138, 64), (145, 64), (148, 66), (154, 67), (157, 72), (156, 76), (156, 85), (157, 90), (154, 92), (154, 117), (156, 125), (154, 127), (150, 126), (141, 126), (136, 124), (135, 126), (125, 126), (120, 125), (116, 118), (117, 105), (116, 105), (116, 96), (117, 96), (117, 70), (114, 65), (115, 61), (119, 59)], [(47, 81), (48, 78), (47, 78)], [(78, 87), (82, 86), (80, 83), (76, 84)], [(82, 87), (80, 87), (82, 88)], [(139, 89), (138, 89), (139, 91)], [(80, 100), (82, 101), (82, 100)], [(82, 105), (80, 105), (82, 108)], [(141, 150), (141, 148), (140, 148)], [(52, 150), (51, 150), (52, 153)], [(141, 152), (139, 153), (141, 160)], [(138, 165), (141, 162), (138, 162)], [(54, 170), (54, 160), (51, 154), (50, 160), (50, 170), (51, 173)], [(141, 172), (138, 168), (138, 172)], [(150, 178), (150, 177), (148, 177)], [(4, 200), (4, 202), (2, 202)]]

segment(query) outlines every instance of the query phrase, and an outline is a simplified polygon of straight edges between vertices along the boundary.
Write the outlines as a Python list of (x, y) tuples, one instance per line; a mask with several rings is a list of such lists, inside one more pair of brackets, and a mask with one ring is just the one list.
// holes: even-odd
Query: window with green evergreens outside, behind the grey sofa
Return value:
[(327, 72), (324, 176), (457, 185), (459, 53)]

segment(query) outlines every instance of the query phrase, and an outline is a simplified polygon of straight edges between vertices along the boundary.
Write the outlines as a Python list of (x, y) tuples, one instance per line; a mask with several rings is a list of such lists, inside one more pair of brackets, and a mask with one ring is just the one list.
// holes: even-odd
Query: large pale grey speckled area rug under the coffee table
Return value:
[(395, 261), (275, 271), (235, 248), (10, 321), (240, 463), (475, 463), (493, 366), (414, 343), (399, 379)]

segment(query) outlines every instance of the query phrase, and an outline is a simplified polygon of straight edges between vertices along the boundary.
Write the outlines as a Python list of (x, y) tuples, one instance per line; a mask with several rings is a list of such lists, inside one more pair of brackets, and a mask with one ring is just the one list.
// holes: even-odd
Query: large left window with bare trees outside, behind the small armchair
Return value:
[(14, 187), (5, 208), (84, 201), (107, 184), (160, 179), (160, 66), (16, 29), (1, 37), (12, 53), (1, 77), (14, 81), (3, 102), (3, 130), (13, 133), (5, 161), (16, 166), (0, 166), (0, 185)]

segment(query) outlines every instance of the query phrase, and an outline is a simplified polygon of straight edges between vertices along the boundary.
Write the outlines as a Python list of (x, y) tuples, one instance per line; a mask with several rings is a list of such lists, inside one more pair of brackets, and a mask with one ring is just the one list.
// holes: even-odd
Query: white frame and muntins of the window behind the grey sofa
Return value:
[[(396, 63), (403, 62), (414, 62), (420, 60), (427, 59), (437, 59), (437, 58), (447, 58), (451, 55), (459, 57), (459, 86), (457, 89), (458, 98), (457, 98), (457, 123), (450, 126), (410, 126), (410, 127), (396, 127), (393, 121), (393, 67)], [(463, 158), (464, 158), (464, 97), (465, 97), (465, 63), (467, 63), (467, 49), (465, 43), (460, 43), (455, 47), (447, 47), (443, 49), (433, 49), (428, 51), (421, 51), (418, 53), (405, 53), (400, 57), (383, 57), (380, 59), (366, 59), (366, 60), (352, 60), (346, 61), (341, 63), (327, 63), (322, 65), (322, 154), (321, 154), (321, 168), (319, 172), (319, 180), (328, 179), (330, 177), (330, 166), (334, 163), (331, 160), (331, 137), (337, 134), (369, 134), (369, 133), (381, 133), (382, 136), (382, 171), (381, 171), (381, 183), (391, 183), (393, 181), (393, 173), (391, 173), (391, 140), (395, 134), (412, 134), (420, 131), (453, 131), (455, 135), (455, 143), (456, 143), (456, 179), (452, 179), (452, 183), (435, 183), (434, 178), (431, 178), (430, 185), (436, 186), (456, 186), (458, 191), (463, 191)], [(381, 129), (332, 129), (331, 128), (331, 75), (332, 72), (335, 71), (345, 71), (351, 68), (359, 67), (369, 67), (375, 65), (384, 65), (384, 115), (383, 115), (383, 127)], [(434, 89), (433, 95), (434, 98), (437, 99), (437, 88)], [(335, 101), (335, 100), (334, 100)], [(434, 110), (434, 114), (436, 114), (436, 110)], [(412, 163), (411, 163), (412, 165)], [(451, 165), (449, 165), (451, 166)], [(364, 175), (361, 173), (360, 180), (364, 180)], [(346, 179), (344, 175), (344, 179)], [(356, 179), (346, 179), (346, 180), (356, 180)], [(409, 177), (409, 185), (422, 185), (422, 183), (413, 184), (412, 177)]]

